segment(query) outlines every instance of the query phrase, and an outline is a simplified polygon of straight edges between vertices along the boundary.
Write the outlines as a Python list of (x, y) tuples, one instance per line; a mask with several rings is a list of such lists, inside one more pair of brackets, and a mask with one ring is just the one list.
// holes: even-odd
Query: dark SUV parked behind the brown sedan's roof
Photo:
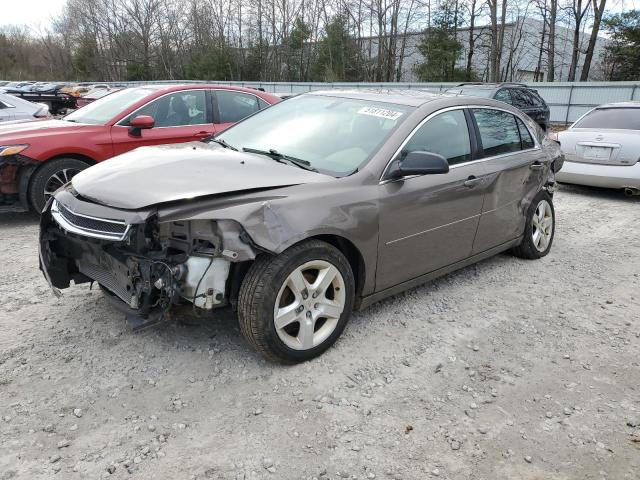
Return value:
[(545, 132), (549, 126), (549, 106), (537, 90), (523, 83), (461, 83), (447, 93), (494, 98), (523, 111)]

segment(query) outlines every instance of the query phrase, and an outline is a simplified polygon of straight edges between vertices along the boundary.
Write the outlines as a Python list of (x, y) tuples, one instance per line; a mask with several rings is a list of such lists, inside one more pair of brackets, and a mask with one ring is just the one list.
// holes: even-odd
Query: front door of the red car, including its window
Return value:
[[(204, 89), (180, 90), (152, 100), (111, 127), (114, 155), (145, 145), (191, 142), (215, 133), (210, 93)], [(150, 115), (155, 126), (135, 135), (129, 122)]]

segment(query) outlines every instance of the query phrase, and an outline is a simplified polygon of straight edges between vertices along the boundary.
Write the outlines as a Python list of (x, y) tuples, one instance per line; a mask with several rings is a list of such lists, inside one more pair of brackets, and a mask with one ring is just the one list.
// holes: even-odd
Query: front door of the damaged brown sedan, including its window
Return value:
[(473, 161), (463, 108), (429, 118), (399, 155), (444, 156), (449, 173), (382, 181), (376, 290), (411, 280), (471, 255), (486, 191), (483, 162)]

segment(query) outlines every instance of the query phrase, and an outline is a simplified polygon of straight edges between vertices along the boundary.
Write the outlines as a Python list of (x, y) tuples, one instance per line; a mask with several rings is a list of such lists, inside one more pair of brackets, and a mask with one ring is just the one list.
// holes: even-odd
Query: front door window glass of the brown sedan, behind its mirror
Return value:
[(436, 115), (420, 127), (402, 149), (402, 155), (425, 151), (442, 155), (449, 165), (471, 160), (471, 142), (462, 110)]

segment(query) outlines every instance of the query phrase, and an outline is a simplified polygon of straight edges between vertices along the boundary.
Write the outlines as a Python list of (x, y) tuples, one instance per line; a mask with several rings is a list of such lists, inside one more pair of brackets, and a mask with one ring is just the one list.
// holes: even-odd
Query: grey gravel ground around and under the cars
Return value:
[(378, 303), (292, 367), (231, 313), (132, 333), (99, 291), (56, 300), (4, 216), (0, 479), (638, 479), (639, 207), (564, 187), (546, 258)]

